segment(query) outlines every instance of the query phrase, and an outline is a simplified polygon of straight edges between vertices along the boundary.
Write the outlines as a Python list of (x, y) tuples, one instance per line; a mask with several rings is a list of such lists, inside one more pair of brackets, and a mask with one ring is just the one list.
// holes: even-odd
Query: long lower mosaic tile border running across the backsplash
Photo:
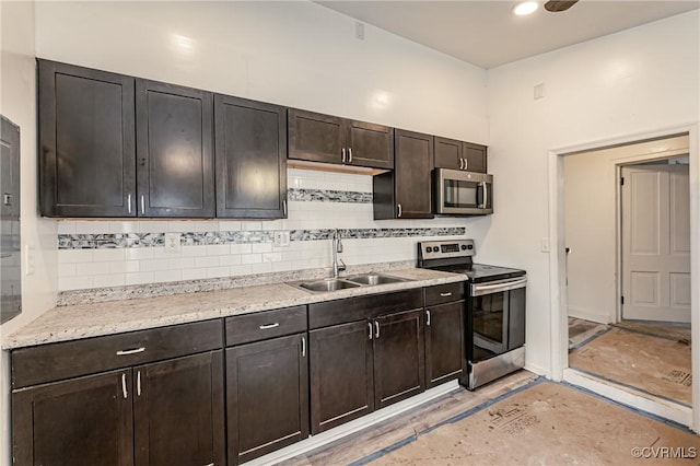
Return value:
[[(291, 230), (291, 241), (330, 240), (335, 229)], [(339, 229), (343, 238), (370, 240), (382, 237), (460, 236), (464, 226), (416, 228), (416, 229)], [(183, 246), (205, 246), (211, 244), (272, 243), (272, 230), (230, 232), (180, 233)], [(106, 233), (106, 234), (59, 234), (59, 249), (116, 249), (132, 247), (159, 247), (165, 245), (165, 233)]]

